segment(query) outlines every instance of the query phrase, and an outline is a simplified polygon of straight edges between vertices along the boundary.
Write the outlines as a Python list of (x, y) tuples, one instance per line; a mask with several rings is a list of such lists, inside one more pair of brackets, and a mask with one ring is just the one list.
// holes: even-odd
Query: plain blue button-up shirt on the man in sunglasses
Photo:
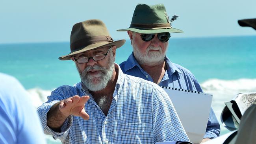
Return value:
[[(167, 70), (158, 85), (202, 92), (202, 88), (197, 79), (189, 70), (172, 63), (168, 57), (165, 57), (165, 63)], [(125, 74), (153, 81), (151, 76), (141, 68), (133, 53), (128, 57), (127, 61), (120, 64), (120, 67)], [(204, 138), (216, 138), (219, 136), (220, 130), (221, 128), (217, 117), (213, 109), (211, 109)]]

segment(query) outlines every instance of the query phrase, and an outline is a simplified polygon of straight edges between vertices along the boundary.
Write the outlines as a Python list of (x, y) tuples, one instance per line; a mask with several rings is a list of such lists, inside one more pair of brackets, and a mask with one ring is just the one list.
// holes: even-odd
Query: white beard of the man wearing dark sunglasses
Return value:
[[(160, 46), (158, 46), (157, 48), (151, 45), (148, 46), (146, 50), (146, 54), (141, 53), (141, 51), (139, 51), (138, 46), (134, 42), (132, 42), (132, 47), (134, 50), (134, 56), (137, 59), (138, 63), (141, 65), (154, 66), (154, 65), (161, 64), (165, 59), (166, 50), (162, 54), (162, 49)], [(152, 52), (150, 50), (158, 50), (158, 51)]]

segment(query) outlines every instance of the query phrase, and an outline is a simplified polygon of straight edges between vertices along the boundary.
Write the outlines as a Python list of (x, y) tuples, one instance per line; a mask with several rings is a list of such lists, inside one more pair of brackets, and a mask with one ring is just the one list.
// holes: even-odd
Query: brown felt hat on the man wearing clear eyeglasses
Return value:
[(74, 24), (70, 34), (70, 53), (59, 57), (59, 59), (70, 60), (72, 55), (100, 47), (116, 46), (119, 48), (124, 42), (124, 39), (113, 41), (101, 20), (85, 20)]

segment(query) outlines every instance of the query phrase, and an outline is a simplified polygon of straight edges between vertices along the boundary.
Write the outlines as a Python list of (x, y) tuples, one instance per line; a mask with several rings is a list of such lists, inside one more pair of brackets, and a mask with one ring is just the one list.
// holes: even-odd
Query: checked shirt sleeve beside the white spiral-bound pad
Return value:
[(160, 88), (152, 94), (154, 142), (189, 141), (167, 93)]

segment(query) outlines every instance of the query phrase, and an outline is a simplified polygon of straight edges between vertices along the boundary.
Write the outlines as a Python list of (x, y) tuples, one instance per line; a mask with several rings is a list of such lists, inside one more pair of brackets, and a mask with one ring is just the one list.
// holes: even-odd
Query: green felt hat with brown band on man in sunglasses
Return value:
[(153, 6), (138, 4), (135, 7), (130, 27), (117, 31), (134, 31), (137, 33), (183, 33), (182, 30), (172, 28), (163, 4)]

